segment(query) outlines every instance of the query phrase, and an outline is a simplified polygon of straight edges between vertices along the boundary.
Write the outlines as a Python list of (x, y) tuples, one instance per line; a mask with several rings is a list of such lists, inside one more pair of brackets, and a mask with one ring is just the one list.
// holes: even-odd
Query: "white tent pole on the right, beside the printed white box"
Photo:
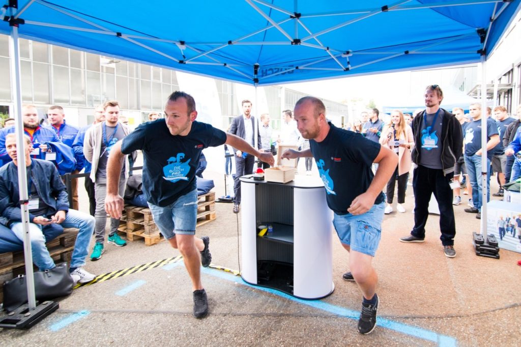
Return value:
[(487, 56), (481, 55), (481, 234), (487, 241)]

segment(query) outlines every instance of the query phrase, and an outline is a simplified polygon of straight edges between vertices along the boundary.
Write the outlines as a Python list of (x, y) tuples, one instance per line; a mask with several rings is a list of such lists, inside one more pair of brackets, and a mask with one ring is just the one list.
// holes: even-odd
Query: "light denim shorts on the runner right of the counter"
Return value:
[(333, 225), (340, 242), (349, 245), (353, 251), (374, 257), (380, 243), (384, 207), (382, 202), (373, 205), (363, 215), (334, 214)]

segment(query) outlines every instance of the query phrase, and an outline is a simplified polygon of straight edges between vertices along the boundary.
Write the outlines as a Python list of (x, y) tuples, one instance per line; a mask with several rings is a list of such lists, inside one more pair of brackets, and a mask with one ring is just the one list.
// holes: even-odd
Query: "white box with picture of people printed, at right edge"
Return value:
[(521, 204), (494, 200), (487, 204), (487, 233), (498, 239), (500, 248), (521, 253)]

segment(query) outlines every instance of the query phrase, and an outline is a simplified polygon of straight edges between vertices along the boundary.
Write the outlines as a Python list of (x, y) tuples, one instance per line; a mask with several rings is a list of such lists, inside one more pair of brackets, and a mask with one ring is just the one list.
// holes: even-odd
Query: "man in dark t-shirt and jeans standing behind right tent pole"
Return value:
[[(481, 175), (481, 104), (474, 103), (468, 108), (470, 121), (463, 128), (465, 145), (465, 166), (468, 179), (472, 185), (472, 201), (474, 207), (465, 208), (465, 212), (477, 213), (476, 218), (481, 219), (482, 181)], [(487, 118), (487, 202), (490, 200), (490, 160), (494, 155), (493, 148), (499, 143), (498, 127), (491, 118)]]

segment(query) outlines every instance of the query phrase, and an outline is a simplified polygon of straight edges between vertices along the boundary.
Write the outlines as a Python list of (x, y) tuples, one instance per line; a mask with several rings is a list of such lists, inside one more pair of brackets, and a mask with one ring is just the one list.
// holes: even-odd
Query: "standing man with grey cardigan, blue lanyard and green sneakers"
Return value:
[[(104, 253), (105, 242), (105, 225), (107, 222), (107, 215), (105, 212), (105, 196), (107, 195), (107, 159), (111, 148), (116, 142), (125, 138), (129, 133), (129, 128), (118, 121), (119, 118), (119, 104), (117, 101), (107, 101), (103, 105), (103, 112), (105, 114), (105, 121), (89, 128), (85, 133), (83, 142), (83, 154), (85, 158), (92, 163), (91, 179), (94, 182), (94, 191), (96, 199), (96, 210), (94, 218), (96, 225), (94, 233), (96, 236), (96, 243), (91, 254), (91, 260), (97, 261)], [(125, 192), (125, 185), (127, 183), (129, 173), (128, 156), (125, 156), (125, 165), (123, 165), (120, 172), (119, 194), (123, 195)], [(108, 243), (114, 244), (118, 247), (125, 246), (127, 242), (122, 240), (117, 229), (119, 227), (119, 218), (110, 219), (110, 232), (108, 235)]]

